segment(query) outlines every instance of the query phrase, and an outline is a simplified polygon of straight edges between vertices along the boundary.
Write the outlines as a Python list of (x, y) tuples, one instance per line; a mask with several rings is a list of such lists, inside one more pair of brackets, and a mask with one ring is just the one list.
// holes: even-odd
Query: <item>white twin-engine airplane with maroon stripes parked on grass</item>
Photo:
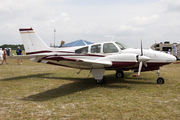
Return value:
[(52, 65), (78, 69), (89, 69), (98, 84), (104, 84), (105, 70), (115, 70), (117, 78), (123, 78), (124, 72), (157, 70), (158, 84), (163, 84), (159, 69), (163, 65), (176, 61), (170, 54), (154, 50), (128, 48), (119, 42), (95, 43), (79, 47), (50, 48), (32, 28), (19, 29), (26, 55), (13, 56), (18, 59), (30, 59)]

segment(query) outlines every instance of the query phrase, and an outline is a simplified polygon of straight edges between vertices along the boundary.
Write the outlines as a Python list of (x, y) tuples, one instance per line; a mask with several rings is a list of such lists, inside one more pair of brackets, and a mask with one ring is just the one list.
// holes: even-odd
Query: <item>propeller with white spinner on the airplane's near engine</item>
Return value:
[(141, 38), (141, 54), (138, 55), (137, 58), (138, 58), (138, 62), (139, 62), (138, 76), (140, 76), (143, 63), (147, 67), (146, 61), (150, 60), (149, 57), (144, 56), (144, 54), (143, 54), (142, 38)]

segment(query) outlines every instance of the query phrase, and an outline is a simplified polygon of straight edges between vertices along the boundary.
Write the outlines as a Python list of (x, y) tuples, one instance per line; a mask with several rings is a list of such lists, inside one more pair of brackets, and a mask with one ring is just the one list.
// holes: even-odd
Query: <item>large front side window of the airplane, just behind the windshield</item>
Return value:
[(116, 46), (113, 43), (105, 43), (103, 46), (104, 53), (115, 53), (119, 52)]

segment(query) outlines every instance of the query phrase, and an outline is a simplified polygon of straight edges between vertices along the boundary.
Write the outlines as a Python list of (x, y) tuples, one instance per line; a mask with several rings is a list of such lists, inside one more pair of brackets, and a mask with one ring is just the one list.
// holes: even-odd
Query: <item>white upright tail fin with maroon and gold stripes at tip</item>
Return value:
[(20, 28), (19, 31), (26, 54), (50, 50), (32, 28)]

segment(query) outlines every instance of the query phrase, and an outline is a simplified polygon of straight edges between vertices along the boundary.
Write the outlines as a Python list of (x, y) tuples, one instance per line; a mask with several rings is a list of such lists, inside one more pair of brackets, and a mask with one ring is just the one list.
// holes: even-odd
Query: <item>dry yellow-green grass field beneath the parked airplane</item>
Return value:
[(8, 59), (0, 66), (0, 119), (180, 119), (180, 64), (124, 79), (106, 71), (98, 85), (89, 71)]

